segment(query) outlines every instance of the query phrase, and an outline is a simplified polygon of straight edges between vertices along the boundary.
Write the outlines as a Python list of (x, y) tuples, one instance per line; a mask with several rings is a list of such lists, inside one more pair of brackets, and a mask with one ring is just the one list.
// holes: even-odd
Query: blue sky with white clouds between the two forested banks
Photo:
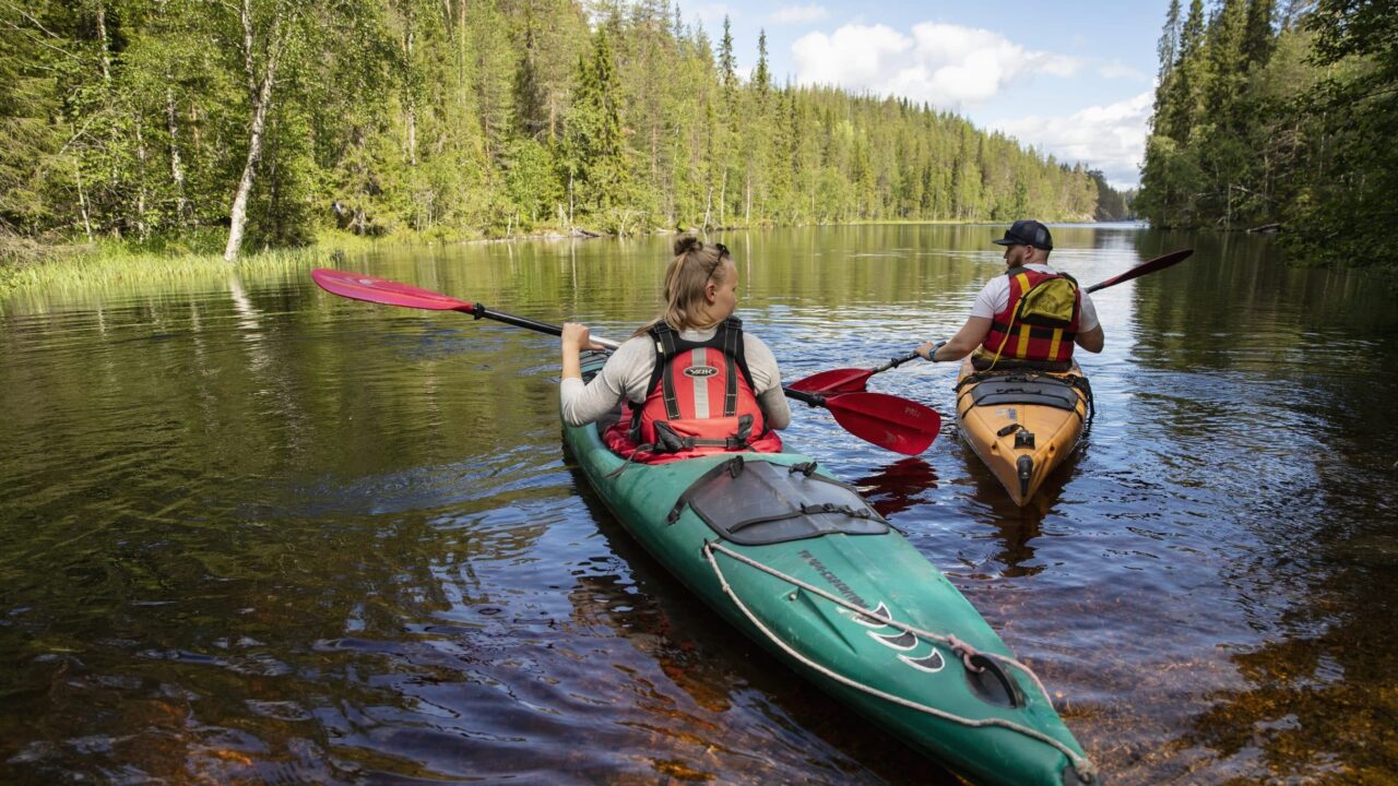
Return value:
[(927, 101), (1134, 187), (1167, 6), (681, 0), (679, 8), (714, 42), (728, 15), (744, 71), (756, 63), (765, 29), (777, 81)]

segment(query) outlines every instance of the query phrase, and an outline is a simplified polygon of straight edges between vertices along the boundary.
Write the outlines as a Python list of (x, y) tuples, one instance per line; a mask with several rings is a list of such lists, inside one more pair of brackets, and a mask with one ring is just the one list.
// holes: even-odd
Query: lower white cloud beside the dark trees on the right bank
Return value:
[(1026, 116), (991, 123), (1023, 144), (1051, 152), (1058, 161), (1081, 161), (1102, 169), (1113, 187), (1135, 187), (1145, 157), (1146, 123), (1155, 90), (1107, 106), (1089, 106), (1067, 117)]

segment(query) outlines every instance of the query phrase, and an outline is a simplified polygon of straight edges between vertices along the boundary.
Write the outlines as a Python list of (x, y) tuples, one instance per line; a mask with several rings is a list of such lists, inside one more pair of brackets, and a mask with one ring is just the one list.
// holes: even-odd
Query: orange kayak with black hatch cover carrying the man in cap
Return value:
[(1076, 362), (1062, 373), (976, 372), (967, 359), (956, 378), (956, 428), (1023, 506), (1078, 446), (1090, 401)]

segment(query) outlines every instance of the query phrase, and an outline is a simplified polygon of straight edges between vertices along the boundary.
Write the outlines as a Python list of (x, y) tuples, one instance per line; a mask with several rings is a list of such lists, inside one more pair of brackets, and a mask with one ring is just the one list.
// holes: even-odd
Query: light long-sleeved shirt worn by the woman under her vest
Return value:
[[(681, 330), (679, 337), (685, 341), (707, 341), (717, 331), (717, 327)], [(791, 422), (791, 410), (781, 390), (781, 371), (776, 355), (762, 338), (747, 331), (742, 333), (742, 351), (748, 359), (748, 371), (752, 372), (752, 392), (758, 394), (758, 406), (768, 428), (786, 428)], [(636, 336), (626, 340), (587, 385), (577, 378), (562, 382), (558, 394), (563, 421), (568, 425), (594, 422), (612, 411), (622, 397), (635, 404), (644, 403), (654, 369), (656, 345), (651, 337)]]

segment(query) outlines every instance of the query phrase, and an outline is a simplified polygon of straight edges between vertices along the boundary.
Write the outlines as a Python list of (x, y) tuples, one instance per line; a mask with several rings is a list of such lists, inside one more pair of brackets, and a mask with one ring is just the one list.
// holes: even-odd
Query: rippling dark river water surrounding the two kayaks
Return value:
[[(787, 379), (949, 336), (993, 227), (728, 232)], [(921, 456), (800, 408), (1047, 684), (1111, 783), (1398, 780), (1394, 288), (1267, 238), (1054, 228), (1099, 292), (1096, 418), (1025, 509), (951, 365), (872, 390)], [(625, 337), (670, 238), (340, 266)], [(306, 271), (0, 303), (0, 782), (951, 782), (689, 597), (582, 485), (556, 341)]]

